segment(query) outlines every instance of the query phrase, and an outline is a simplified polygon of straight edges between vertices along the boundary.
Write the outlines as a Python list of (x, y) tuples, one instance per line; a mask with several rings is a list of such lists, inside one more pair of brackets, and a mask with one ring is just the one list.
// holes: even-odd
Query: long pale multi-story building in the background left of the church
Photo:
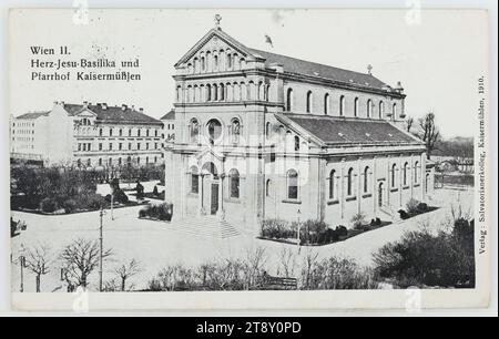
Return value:
[(162, 123), (134, 106), (55, 102), (11, 123), (11, 156), (45, 165), (110, 167), (160, 164)]

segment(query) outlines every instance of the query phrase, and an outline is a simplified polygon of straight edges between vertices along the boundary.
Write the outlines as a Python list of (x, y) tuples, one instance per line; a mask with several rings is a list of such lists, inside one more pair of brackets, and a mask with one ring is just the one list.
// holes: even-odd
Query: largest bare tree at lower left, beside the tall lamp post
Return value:
[[(79, 238), (68, 245), (60, 256), (63, 263), (63, 278), (69, 285), (69, 289), (75, 287), (86, 288), (89, 276), (99, 267), (100, 246), (96, 240)], [(102, 253), (102, 258), (106, 259), (112, 255), (110, 249)]]

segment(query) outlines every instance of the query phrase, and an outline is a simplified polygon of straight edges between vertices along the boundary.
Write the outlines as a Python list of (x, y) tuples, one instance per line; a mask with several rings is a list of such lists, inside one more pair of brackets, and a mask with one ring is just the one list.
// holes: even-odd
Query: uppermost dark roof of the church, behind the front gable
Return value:
[(324, 78), (346, 84), (356, 84), (365, 88), (381, 90), (386, 84), (371, 74), (348, 71), (316, 62), (295, 59), (286, 55), (274, 54), (266, 51), (249, 49), (253, 53), (265, 59), (265, 66), (278, 63), (284, 66), (284, 72)]

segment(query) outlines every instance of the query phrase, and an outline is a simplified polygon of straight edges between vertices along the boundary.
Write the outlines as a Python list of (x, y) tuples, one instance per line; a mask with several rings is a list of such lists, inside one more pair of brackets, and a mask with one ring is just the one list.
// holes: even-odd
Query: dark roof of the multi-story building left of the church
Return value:
[[(80, 113), (85, 106), (80, 104), (64, 104), (64, 110), (71, 115)], [(131, 107), (122, 109), (122, 106), (106, 106), (102, 104), (88, 105), (88, 109), (95, 113), (96, 120), (100, 122), (109, 122), (116, 124), (155, 124), (162, 123), (152, 116), (132, 110)]]

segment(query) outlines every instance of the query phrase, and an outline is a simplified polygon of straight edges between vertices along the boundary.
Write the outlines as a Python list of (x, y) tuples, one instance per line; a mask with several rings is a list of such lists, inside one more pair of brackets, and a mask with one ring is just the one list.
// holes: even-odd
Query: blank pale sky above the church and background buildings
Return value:
[[(488, 71), (488, 22), (478, 10), (14, 10), (9, 18), (9, 110), (17, 116), (54, 101), (135, 105), (161, 117), (174, 102), (174, 64), (222, 16), (247, 47), (353, 71), (405, 88), (406, 114), (435, 112), (445, 137), (478, 129), (478, 79)], [(416, 16), (414, 16), (416, 14)], [(419, 20), (415, 20), (419, 18)], [(273, 48), (265, 43), (265, 34)], [(69, 59), (139, 58), (139, 82), (32, 81), (31, 47), (68, 45)], [(49, 56), (51, 58), (51, 56)], [(44, 56), (41, 59), (45, 59)], [(54, 58), (55, 59), (55, 58)]]

